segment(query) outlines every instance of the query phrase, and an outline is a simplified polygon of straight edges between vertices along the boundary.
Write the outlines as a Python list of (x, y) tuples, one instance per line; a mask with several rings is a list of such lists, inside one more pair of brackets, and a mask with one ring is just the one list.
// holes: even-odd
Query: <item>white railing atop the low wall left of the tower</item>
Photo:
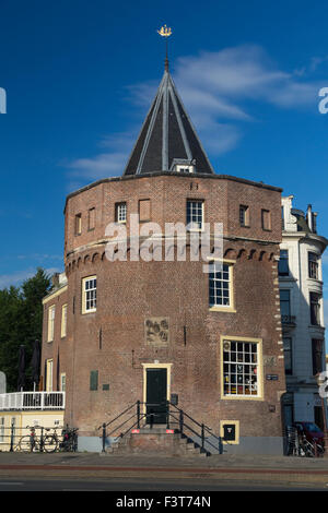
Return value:
[(3, 409), (65, 409), (65, 392), (0, 394), (0, 410)]

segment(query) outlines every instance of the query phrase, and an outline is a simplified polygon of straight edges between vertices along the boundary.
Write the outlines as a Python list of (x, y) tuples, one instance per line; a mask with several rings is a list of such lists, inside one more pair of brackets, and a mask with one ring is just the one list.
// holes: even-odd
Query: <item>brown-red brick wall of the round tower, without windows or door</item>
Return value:
[[(150, 199), (151, 220), (163, 227), (164, 222), (185, 223), (189, 198), (206, 202), (206, 222), (223, 223), (225, 255), (236, 261), (236, 312), (209, 310), (203, 262), (108, 262), (104, 255), (105, 227), (115, 218), (116, 202), (126, 201), (129, 215), (138, 213), (139, 200)], [(249, 228), (239, 226), (239, 204), (249, 205)], [(87, 231), (85, 219), (91, 207), (96, 208), (96, 226)], [(261, 208), (271, 212), (271, 231), (261, 228)], [(78, 213), (82, 213), (82, 234), (74, 236)], [(241, 437), (280, 436), (280, 394), (285, 387), (274, 261), (281, 240), (279, 190), (225, 177), (164, 174), (104, 180), (69, 196), (68, 293), (67, 299), (60, 299), (69, 305), (68, 336), (51, 347), (44, 343), (44, 357), (52, 350), (54, 362), (59, 348), (60, 369), (67, 374), (66, 420), (79, 427), (80, 433), (98, 434), (96, 428), (102, 422), (143, 399), (141, 363), (159, 360), (172, 363), (171, 392), (178, 394), (179, 406), (211, 426), (213, 432), (219, 432), (220, 419), (231, 419), (239, 420)], [(97, 276), (97, 311), (82, 314), (81, 281), (90, 275)], [(169, 319), (167, 346), (145, 344), (147, 315)], [(222, 335), (262, 339), (265, 361), (272, 363), (273, 358), (274, 362), (273, 367), (263, 366), (262, 399), (221, 397)], [(91, 370), (98, 371), (97, 391), (90, 391)], [(278, 374), (279, 380), (267, 381), (267, 373)], [(109, 384), (109, 391), (103, 390), (103, 384)], [(269, 411), (272, 406), (276, 411)]]

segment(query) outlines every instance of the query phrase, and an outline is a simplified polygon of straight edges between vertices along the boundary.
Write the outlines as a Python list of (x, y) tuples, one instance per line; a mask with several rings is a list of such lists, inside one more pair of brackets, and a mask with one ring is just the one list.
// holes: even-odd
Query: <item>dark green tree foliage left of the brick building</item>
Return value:
[(0, 290), (0, 370), (7, 375), (8, 392), (17, 389), (19, 349), (25, 346), (26, 386), (33, 390), (31, 359), (33, 343), (42, 339), (42, 300), (49, 291), (50, 278), (43, 269), (26, 279), (20, 288)]

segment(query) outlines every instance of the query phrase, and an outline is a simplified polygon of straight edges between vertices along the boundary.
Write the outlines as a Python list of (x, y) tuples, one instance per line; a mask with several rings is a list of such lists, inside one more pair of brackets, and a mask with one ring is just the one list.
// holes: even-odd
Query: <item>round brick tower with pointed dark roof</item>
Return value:
[[(209, 223), (211, 234), (222, 223), (222, 259), (206, 273), (187, 246), (179, 261), (175, 237), (172, 261), (131, 261), (130, 237), (127, 259), (109, 261), (107, 227), (130, 234), (130, 214), (141, 235), (149, 222), (161, 234), (165, 223), (191, 220), (199, 232)], [(71, 193), (65, 231), (65, 274), (44, 299), (42, 370), (47, 390), (66, 391), (80, 446), (98, 448), (97, 428), (137, 399), (174, 394), (214, 434), (234, 426), (229, 452), (281, 454), (281, 189), (214, 174), (167, 62), (122, 176)]]

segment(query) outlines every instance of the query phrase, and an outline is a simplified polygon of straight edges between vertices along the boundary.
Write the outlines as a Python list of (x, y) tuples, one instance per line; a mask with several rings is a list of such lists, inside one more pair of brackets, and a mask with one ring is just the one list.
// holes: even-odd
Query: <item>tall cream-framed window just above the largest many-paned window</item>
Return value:
[(232, 310), (233, 297), (233, 263), (226, 261), (211, 262), (209, 273), (209, 302), (210, 308)]

